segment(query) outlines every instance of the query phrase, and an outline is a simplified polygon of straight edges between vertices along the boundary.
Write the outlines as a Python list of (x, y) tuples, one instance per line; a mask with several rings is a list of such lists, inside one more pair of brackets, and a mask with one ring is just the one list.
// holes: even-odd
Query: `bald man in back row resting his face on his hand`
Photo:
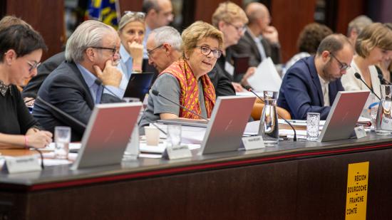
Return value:
[(249, 66), (259, 66), (268, 57), (275, 64), (282, 61), (277, 28), (269, 26), (271, 17), (264, 4), (252, 2), (245, 9), (249, 23), (244, 36), (239, 39), (234, 51), (243, 56), (249, 56)]

